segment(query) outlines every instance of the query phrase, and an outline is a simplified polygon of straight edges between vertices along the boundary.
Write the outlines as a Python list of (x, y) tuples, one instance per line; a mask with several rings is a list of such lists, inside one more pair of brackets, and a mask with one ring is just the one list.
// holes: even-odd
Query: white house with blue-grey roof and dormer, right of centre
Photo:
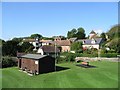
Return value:
[(84, 40), (79, 40), (83, 42), (82, 47), (83, 48), (96, 48), (100, 49), (100, 45), (103, 42), (102, 38), (92, 38), (92, 39), (84, 39)]

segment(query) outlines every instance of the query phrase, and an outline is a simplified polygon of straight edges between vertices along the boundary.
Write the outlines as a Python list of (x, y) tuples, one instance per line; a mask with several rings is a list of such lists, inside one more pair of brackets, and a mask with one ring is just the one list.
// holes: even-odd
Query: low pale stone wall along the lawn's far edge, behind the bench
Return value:
[(120, 58), (106, 58), (106, 57), (94, 57), (94, 58), (90, 58), (90, 57), (76, 57), (75, 58), (76, 62), (79, 60), (83, 60), (83, 61), (113, 61), (113, 62), (120, 62)]

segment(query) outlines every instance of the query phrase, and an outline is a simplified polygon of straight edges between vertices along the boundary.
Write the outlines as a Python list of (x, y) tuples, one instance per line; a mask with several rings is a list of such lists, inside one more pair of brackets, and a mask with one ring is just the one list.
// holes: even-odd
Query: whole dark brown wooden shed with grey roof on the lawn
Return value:
[(18, 57), (18, 67), (35, 74), (52, 72), (55, 70), (55, 58), (47, 55), (26, 54)]

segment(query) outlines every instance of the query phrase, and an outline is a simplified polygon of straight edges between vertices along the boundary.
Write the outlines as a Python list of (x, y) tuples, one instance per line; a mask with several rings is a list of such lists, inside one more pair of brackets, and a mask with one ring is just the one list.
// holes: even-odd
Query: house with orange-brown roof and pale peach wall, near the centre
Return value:
[(61, 47), (62, 52), (69, 52), (71, 43), (70, 40), (57, 40), (53, 42), (54, 45)]

